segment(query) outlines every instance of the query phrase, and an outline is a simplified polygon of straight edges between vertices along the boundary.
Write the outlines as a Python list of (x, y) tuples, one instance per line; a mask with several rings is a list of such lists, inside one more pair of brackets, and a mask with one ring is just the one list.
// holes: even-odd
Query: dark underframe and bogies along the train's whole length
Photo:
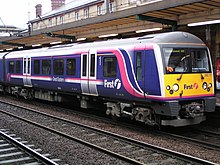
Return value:
[[(0, 91), (25, 99), (41, 99), (51, 102), (62, 102), (65, 94), (19, 86), (0, 85)], [(118, 102), (110, 99), (97, 99), (86, 95), (74, 95), (81, 108), (98, 108), (98, 102), (106, 107), (106, 114), (114, 118), (126, 117), (150, 126), (187, 126), (199, 124), (206, 120), (205, 112), (215, 109), (215, 97), (201, 100), (170, 101), (170, 102)]]

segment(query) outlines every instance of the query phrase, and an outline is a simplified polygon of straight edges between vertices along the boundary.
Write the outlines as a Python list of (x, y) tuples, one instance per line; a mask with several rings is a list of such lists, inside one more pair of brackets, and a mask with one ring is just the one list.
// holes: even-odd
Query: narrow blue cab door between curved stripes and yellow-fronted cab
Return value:
[(135, 70), (136, 70), (136, 80), (138, 84), (139, 91), (144, 94), (145, 96), (145, 48), (143, 47), (135, 47)]

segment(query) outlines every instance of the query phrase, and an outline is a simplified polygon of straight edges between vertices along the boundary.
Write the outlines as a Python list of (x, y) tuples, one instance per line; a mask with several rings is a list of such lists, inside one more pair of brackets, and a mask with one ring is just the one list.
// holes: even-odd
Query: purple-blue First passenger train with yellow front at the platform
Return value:
[[(25, 99), (102, 105), (108, 116), (189, 126), (215, 110), (211, 55), (188, 32), (0, 53), (0, 91)], [(70, 100), (71, 100), (70, 99)]]

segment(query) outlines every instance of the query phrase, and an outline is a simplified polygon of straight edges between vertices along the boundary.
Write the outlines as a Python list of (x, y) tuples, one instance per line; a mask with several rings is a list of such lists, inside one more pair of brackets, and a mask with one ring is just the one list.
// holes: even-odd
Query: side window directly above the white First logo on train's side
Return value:
[(103, 64), (103, 76), (104, 77), (116, 77), (117, 76), (117, 59), (116, 57), (105, 57)]

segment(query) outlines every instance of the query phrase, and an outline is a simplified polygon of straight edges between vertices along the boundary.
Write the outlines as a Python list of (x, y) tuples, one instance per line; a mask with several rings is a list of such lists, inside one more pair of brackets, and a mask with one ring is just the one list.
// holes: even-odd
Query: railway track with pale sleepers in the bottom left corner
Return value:
[(55, 161), (47, 158), (49, 155), (42, 155), (39, 149), (32, 149), (26, 141), (19, 140), (9, 131), (0, 129), (0, 164), (48, 164), (58, 165)]

